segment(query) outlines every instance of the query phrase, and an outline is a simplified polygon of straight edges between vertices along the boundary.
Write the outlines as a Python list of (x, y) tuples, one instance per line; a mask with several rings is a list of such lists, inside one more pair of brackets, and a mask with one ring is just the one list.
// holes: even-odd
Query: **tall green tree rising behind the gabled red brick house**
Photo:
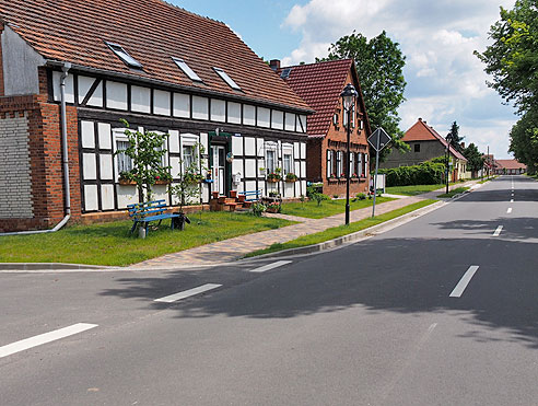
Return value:
[[(385, 31), (370, 40), (353, 31), (351, 35), (341, 37), (329, 47), (327, 58), (316, 60), (347, 58), (355, 61), (372, 128), (383, 127), (393, 137), (391, 147), (408, 151), (409, 147), (400, 140), (404, 132), (398, 127), (398, 107), (406, 100), (404, 90), (407, 84), (404, 79), (406, 57), (399, 44), (391, 40)], [(385, 148), (381, 159), (389, 152), (390, 148)]]

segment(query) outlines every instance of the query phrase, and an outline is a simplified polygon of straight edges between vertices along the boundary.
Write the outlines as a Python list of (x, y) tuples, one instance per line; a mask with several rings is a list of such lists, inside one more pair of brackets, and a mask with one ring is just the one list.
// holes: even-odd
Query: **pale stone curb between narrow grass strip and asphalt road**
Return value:
[(370, 227), (367, 229), (356, 231), (351, 234), (342, 235), (339, 236), (338, 239), (325, 241), (323, 243), (314, 244), (314, 245), (307, 245), (307, 246), (302, 246), (299, 248), (289, 248), (289, 250), (283, 250), (283, 251), (278, 251), (276, 253), (269, 253), (269, 254), (264, 254), (264, 255), (258, 255), (255, 257), (249, 257), (249, 258), (244, 258), (244, 259), (267, 259), (267, 258), (280, 258), (280, 257), (286, 257), (286, 256), (297, 256), (297, 255), (307, 255), (307, 254), (313, 254), (313, 253), (319, 253), (323, 251), (331, 251), (336, 248), (340, 248), (344, 245), (351, 244), (351, 243), (356, 243), (366, 239), (370, 239), (374, 235), (381, 234), (383, 232), (389, 231), (391, 229), (395, 229), (399, 225), (402, 225), (411, 220), (414, 220), (416, 218), (422, 217), (424, 214), (428, 214), (434, 210), (437, 210), (442, 208), (445, 205), (448, 205), (449, 201), (437, 201), (432, 205), (429, 205), (426, 207), (422, 207), (420, 209), (410, 211), (404, 216), (397, 217), (391, 220), (387, 220), (381, 224)]

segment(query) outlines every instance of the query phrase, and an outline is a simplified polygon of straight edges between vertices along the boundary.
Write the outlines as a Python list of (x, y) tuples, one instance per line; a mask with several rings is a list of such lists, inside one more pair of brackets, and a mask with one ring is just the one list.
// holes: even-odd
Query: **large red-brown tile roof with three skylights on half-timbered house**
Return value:
[[(0, 0), (0, 20), (44, 58), (179, 86), (309, 111), (224, 23), (161, 0)], [(105, 44), (121, 45), (143, 65), (128, 68)], [(204, 84), (172, 60), (183, 58)], [(242, 88), (232, 90), (222, 68)]]

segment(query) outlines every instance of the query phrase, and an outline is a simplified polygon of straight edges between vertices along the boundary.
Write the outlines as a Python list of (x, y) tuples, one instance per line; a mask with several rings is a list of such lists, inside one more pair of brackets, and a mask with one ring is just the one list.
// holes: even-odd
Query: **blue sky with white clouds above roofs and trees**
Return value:
[(313, 62), (353, 30), (375, 36), (382, 30), (407, 57), (407, 101), (399, 109), (402, 130), (418, 117), (445, 135), (452, 121), (466, 143), (496, 158), (511, 158), (508, 132), (517, 117), (486, 85), (489, 78), (472, 55), (489, 44), (499, 8), (514, 0), (173, 0), (223, 21), (264, 59)]

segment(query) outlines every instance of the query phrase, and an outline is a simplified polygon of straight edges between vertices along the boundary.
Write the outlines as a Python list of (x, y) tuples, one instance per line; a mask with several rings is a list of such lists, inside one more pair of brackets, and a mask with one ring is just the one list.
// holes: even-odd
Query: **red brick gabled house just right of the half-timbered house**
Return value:
[(306, 176), (323, 183), (329, 196), (346, 194), (347, 114), (340, 93), (347, 83), (355, 86), (359, 97), (351, 123), (350, 192), (369, 192), (369, 148), (371, 135), (366, 108), (352, 59), (273, 69), (315, 111), (308, 117)]

